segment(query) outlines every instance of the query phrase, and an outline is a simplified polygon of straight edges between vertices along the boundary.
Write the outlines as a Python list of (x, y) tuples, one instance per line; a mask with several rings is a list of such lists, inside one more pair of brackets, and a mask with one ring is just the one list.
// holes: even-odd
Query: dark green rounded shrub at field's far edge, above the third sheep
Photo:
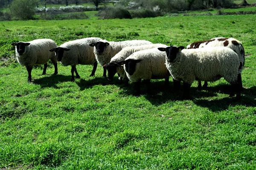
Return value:
[(99, 10), (96, 16), (102, 17), (102, 19), (114, 19), (114, 18), (128, 18), (131, 19), (131, 14), (127, 9), (123, 7), (108, 7), (103, 10)]

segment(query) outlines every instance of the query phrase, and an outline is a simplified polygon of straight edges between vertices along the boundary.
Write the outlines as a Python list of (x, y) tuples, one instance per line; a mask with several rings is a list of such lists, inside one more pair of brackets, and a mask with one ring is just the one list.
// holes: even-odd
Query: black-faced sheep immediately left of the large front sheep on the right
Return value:
[(169, 71), (165, 66), (164, 52), (157, 48), (145, 49), (134, 52), (124, 61), (124, 69), (130, 81), (135, 82), (136, 95), (140, 95), (140, 81), (143, 79), (150, 93), (150, 80), (165, 78), (165, 84), (169, 83)]

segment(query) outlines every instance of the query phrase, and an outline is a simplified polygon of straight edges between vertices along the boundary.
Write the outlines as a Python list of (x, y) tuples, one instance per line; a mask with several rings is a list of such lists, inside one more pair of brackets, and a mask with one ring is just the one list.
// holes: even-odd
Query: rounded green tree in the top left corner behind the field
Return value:
[[(33, 20), (38, 0), (14, 0), (10, 6), (12, 15), (21, 20)], [(28, 5), (29, 4), (29, 5)]]

